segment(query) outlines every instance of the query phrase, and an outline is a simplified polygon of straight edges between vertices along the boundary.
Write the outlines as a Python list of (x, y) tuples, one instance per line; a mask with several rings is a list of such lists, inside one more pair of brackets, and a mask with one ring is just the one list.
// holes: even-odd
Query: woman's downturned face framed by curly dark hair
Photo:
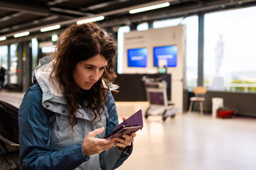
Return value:
[(78, 62), (73, 72), (75, 84), (83, 90), (89, 90), (102, 77), (106, 67), (107, 60), (102, 55)]

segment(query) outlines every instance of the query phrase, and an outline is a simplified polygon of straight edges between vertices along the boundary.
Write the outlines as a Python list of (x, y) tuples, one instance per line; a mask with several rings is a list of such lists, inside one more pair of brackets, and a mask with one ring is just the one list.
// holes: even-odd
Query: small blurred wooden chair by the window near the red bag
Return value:
[(188, 108), (188, 113), (191, 113), (193, 108), (193, 103), (198, 101), (200, 102), (200, 113), (201, 115), (203, 115), (203, 104), (204, 104), (204, 101), (206, 101), (206, 98), (205, 98), (206, 92), (207, 92), (207, 89), (204, 86), (197, 86), (196, 88), (193, 89), (193, 93), (195, 94), (195, 96), (189, 98), (190, 104)]

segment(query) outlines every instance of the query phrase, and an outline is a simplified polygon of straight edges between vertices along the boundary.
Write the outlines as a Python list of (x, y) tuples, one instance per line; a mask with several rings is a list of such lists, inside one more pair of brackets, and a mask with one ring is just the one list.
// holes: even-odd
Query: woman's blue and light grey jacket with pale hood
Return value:
[(117, 109), (110, 91), (100, 121), (91, 121), (89, 109), (80, 107), (78, 123), (72, 127), (68, 121), (67, 101), (58, 87), (48, 78), (52, 68), (49, 57), (40, 60), (36, 67), (37, 83), (28, 89), (19, 108), (18, 126), (22, 169), (116, 169), (132, 153), (132, 147), (122, 152), (118, 147), (101, 154), (85, 157), (82, 140), (97, 128), (105, 131), (103, 138), (118, 125)]

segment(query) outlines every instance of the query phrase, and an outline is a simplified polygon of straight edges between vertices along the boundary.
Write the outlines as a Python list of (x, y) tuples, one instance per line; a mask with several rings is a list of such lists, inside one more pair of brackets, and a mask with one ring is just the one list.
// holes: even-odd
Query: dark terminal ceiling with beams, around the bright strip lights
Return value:
[[(130, 14), (129, 10), (169, 2), (170, 6)], [(255, 6), (252, 0), (0, 0), (0, 37), (10, 43), (15, 33), (29, 31), (46, 37), (40, 29), (60, 24), (65, 28), (83, 18), (105, 16), (99, 23), (117, 31), (118, 26), (139, 24), (164, 18), (186, 17), (198, 13)], [(60, 31), (63, 30), (58, 30)], [(22, 40), (22, 39), (20, 39)]]

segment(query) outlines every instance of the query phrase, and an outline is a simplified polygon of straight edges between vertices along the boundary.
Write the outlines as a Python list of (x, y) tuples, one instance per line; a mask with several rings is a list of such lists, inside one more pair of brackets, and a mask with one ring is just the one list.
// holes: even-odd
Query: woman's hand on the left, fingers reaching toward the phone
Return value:
[(103, 130), (104, 127), (93, 130), (92, 132), (88, 133), (84, 140), (82, 140), (82, 151), (85, 156), (100, 154), (116, 144), (116, 141), (113, 139), (107, 141), (105, 139), (95, 138), (95, 136), (103, 132)]

